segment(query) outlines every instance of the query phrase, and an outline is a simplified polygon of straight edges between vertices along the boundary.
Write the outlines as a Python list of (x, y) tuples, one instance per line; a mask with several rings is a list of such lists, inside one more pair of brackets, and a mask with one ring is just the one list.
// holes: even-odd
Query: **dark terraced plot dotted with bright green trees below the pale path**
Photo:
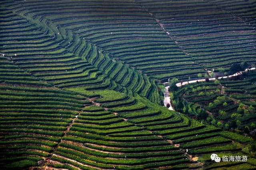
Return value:
[[(194, 83), (183, 86), (174, 94), (176, 108), (200, 117), (202, 109), (223, 125), (229, 123), (242, 131), (254, 129), (256, 123), (256, 72), (251, 71), (235, 79)], [(190, 111), (189, 111), (190, 110)], [(215, 122), (215, 124), (217, 123)], [(237, 122), (238, 121), (238, 122)]]

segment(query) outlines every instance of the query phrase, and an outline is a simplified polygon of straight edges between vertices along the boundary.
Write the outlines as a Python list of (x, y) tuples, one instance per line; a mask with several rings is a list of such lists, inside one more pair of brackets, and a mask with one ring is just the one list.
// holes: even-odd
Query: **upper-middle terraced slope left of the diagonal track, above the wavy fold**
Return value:
[(50, 29), (57, 28), (60, 32), (65, 31), (61, 35), (72, 36), (66, 39), (71, 46), (79, 45), (73, 37), (85, 39), (101, 48), (104, 55), (148, 76), (162, 79), (158, 75), (168, 74), (169, 77), (187, 78), (204, 72), (202, 66), (186, 55), (136, 2), (66, 0), (62, 4), (59, 1), (22, 1), (18, 4), (14, 11), (19, 15), (47, 20)]

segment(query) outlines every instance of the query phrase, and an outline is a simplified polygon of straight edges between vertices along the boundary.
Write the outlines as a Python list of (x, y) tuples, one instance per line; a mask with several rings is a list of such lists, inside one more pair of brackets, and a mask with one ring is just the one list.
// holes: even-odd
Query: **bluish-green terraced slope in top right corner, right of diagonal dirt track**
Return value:
[(204, 68), (256, 62), (255, 0), (137, 2), (152, 13), (176, 44)]

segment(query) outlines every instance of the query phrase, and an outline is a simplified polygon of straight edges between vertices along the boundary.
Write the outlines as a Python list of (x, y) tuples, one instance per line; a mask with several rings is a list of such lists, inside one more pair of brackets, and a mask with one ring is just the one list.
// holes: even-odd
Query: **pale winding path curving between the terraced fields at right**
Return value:
[[(231, 78), (231, 77), (235, 77), (235, 76), (240, 76), (242, 74), (244, 74), (245, 72), (248, 72), (249, 70), (256, 70), (256, 68), (246, 68), (244, 71), (240, 71), (240, 72), (236, 72), (235, 74), (229, 75), (229, 76), (223, 76), (223, 77), (218, 77), (218, 79), (222, 79), (222, 78)], [(214, 81), (216, 80), (216, 78), (209, 78), (209, 81)], [(176, 84), (177, 87), (186, 85), (186, 84), (191, 84), (191, 83), (196, 83), (196, 82), (205, 82), (206, 79), (197, 79), (197, 80), (190, 80), (190, 81), (186, 81), (186, 82), (179, 82)], [(165, 83), (164, 83), (165, 84)], [(169, 87), (170, 86), (166, 86), (165, 90), (164, 90), (164, 106), (166, 107), (167, 104), (170, 104), (170, 107), (168, 108), (169, 110), (174, 110), (174, 107), (171, 105), (170, 102), (170, 93), (169, 93)]]

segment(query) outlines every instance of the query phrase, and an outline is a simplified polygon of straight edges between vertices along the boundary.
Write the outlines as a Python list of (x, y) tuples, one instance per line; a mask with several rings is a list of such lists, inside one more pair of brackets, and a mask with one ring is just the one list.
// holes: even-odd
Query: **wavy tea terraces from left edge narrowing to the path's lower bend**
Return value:
[(52, 29), (48, 20), (31, 23), (30, 18), (7, 8), (2, 16), (1, 52), (40, 80), (59, 88), (86, 86), (88, 90), (135, 92), (160, 103), (154, 80), (103, 55), (94, 44), (70, 31), (56, 26)]

